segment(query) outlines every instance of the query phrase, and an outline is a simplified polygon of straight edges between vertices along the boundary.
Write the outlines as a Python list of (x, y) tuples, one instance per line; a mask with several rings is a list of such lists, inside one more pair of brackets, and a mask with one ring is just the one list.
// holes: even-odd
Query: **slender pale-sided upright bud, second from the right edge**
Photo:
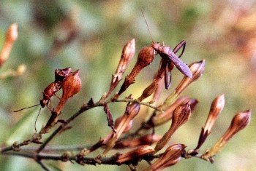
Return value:
[(219, 95), (211, 103), (211, 109), (208, 114), (206, 124), (201, 130), (200, 138), (198, 140), (197, 147), (195, 148), (195, 150), (199, 149), (200, 146), (202, 146), (203, 143), (206, 141), (206, 138), (211, 133), (211, 128), (214, 126), (214, 123), (215, 123), (217, 117), (219, 116), (219, 114), (222, 112), (222, 109), (224, 108), (224, 106), (225, 106), (224, 94)]

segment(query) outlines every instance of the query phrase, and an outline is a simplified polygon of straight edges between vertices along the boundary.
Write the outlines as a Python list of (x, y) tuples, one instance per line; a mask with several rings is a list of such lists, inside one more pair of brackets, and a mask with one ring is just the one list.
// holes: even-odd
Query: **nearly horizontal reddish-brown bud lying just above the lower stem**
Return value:
[(132, 147), (138, 147), (138, 146), (143, 146), (143, 145), (151, 145), (151, 144), (159, 141), (160, 138), (162, 138), (162, 136), (148, 134), (148, 135), (144, 135), (140, 138), (119, 140), (116, 142), (116, 146), (114, 148), (132, 148)]

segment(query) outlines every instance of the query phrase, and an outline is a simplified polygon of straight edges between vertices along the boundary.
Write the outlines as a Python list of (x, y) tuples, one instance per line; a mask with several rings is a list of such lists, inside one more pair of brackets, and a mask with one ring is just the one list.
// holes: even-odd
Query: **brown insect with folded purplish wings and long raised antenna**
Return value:
[[(141, 12), (143, 14), (143, 10), (141, 10)], [(144, 14), (143, 14), (143, 17), (148, 28), (148, 23), (146, 21)], [(149, 28), (148, 28), (148, 32), (151, 36)], [(184, 76), (187, 76), (189, 78), (192, 77), (192, 73), (189, 67), (187, 66), (187, 64), (179, 59), (179, 57), (181, 57), (184, 53), (184, 50), (186, 47), (186, 41), (181, 41), (174, 49), (171, 49), (170, 47), (167, 47), (164, 44), (161, 45), (158, 42), (155, 43), (152, 36), (151, 36), (151, 39), (152, 39), (152, 44), (150, 46), (154, 48), (154, 50), (157, 52), (155, 53), (155, 55), (159, 54), (162, 57), (160, 68), (165, 67), (165, 88), (166, 89), (169, 89), (170, 87), (170, 82), (171, 82), (170, 71), (172, 70), (173, 65), (176, 65), (178, 70), (181, 71), (181, 73), (183, 73)], [(176, 52), (178, 52), (178, 50), (181, 48), (182, 48), (181, 55), (177, 56)]]

